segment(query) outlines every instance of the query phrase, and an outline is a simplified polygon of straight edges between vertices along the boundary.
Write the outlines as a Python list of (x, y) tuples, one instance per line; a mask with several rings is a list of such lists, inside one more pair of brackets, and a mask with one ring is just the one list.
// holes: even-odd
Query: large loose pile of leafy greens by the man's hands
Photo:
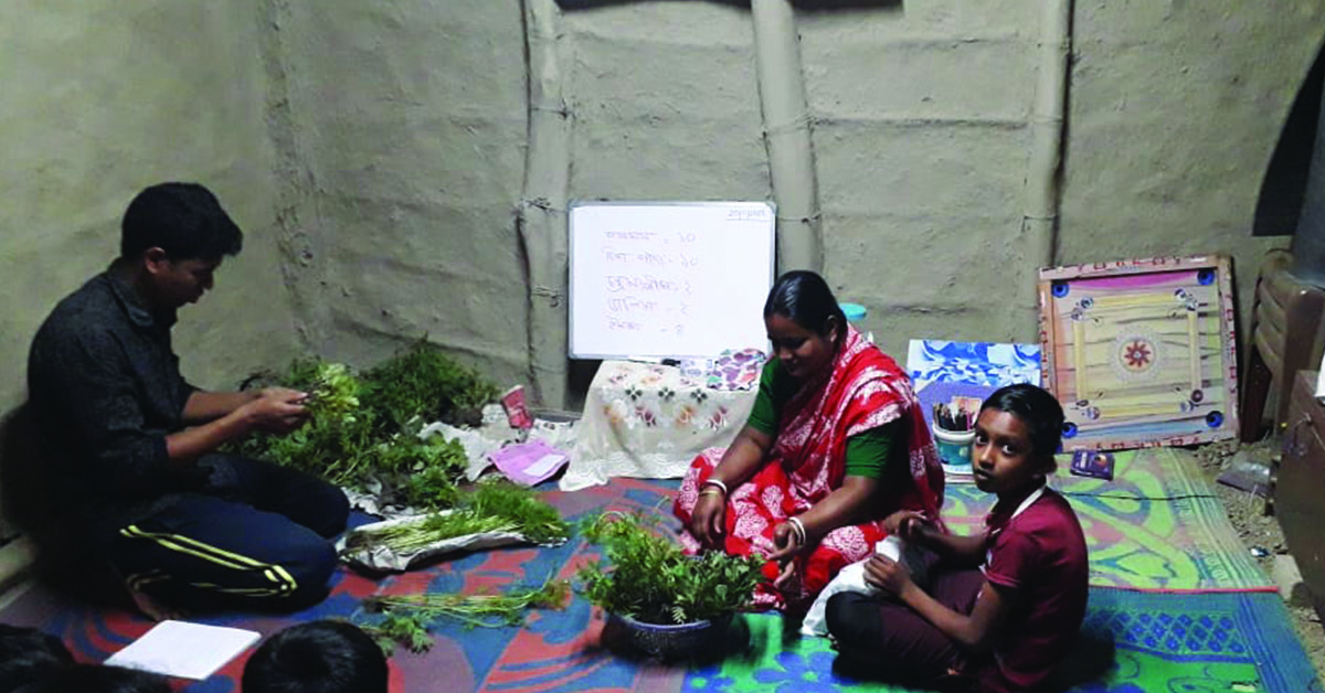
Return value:
[(281, 386), (311, 396), (309, 423), (260, 433), (229, 448), (331, 484), (376, 494), (386, 505), (452, 507), (469, 460), (458, 440), (419, 433), (432, 421), (481, 420), (497, 386), (420, 339), (380, 366), (355, 374), (341, 363), (297, 359), (284, 374), (254, 374), (245, 387)]

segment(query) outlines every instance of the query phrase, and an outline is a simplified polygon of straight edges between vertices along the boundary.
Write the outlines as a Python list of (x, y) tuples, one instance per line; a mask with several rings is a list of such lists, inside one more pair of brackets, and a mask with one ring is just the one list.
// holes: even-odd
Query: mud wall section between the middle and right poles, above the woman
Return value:
[[(1039, 3), (806, 12), (824, 274), (885, 351), (916, 337), (1032, 341), (1016, 242)], [(1010, 305), (1014, 303), (1014, 305)], [(1012, 307), (1014, 310), (1010, 310)]]

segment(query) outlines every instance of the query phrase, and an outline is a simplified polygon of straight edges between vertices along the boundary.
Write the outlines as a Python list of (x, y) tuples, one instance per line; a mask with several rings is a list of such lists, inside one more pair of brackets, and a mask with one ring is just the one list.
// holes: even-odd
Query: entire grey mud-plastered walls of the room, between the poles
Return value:
[[(1259, 254), (1284, 245), (1253, 240), (1249, 220), (1325, 8), (1076, 5), (1057, 260), (1230, 253), (1246, 301)], [(560, 7), (571, 197), (771, 197), (745, 3)], [(113, 254), (127, 199), (171, 178), (212, 186), (248, 232), (179, 327), (204, 384), (295, 351), (366, 366), (425, 333), (521, 382), (522, 11), (0, 7), (0, 403), (23, 395), (41, 317)], [(798, 3), (824, 270), (890, 352), (912, 337), (1034, 339), (1020, 219), (1039, 13)]]

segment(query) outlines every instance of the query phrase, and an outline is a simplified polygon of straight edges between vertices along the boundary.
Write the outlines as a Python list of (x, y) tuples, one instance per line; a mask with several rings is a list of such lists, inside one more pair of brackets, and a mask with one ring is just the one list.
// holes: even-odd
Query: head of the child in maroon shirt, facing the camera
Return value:
[(1015, 384), (980, 404), (971, 465), (983, 490), (1015, 490), (1053, 473), (1063, 440), (1063, 405), (1044, 390)]

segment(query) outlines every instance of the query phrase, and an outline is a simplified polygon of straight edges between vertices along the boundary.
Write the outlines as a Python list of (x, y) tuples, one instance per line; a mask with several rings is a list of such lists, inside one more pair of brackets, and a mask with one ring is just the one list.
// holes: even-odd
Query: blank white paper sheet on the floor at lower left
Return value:
[(111, 655), (106, 664), (203, 680), (260, 637), (262, 635), (256, 631), (167, 620)]

